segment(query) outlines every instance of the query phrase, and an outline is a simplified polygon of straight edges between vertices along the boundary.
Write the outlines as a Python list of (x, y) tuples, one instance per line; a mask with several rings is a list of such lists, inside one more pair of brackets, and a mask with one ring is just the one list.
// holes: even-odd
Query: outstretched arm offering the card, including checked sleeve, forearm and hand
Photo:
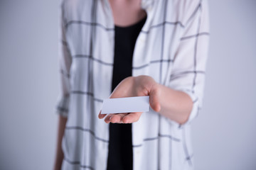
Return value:
[[(183, 33), (175, 52), (168, 85), (148, 76), (129, 77), (114, 89), (110, 98), (149, 96), (151, 108), (179, 124), (196, 118), (201, 109), (208, 56), (208, 1), (185, 4)], [(192, 3), (193, 4), (193, 3)], [(133, 123), (142, 113), (99, 114), (106, 123)]]

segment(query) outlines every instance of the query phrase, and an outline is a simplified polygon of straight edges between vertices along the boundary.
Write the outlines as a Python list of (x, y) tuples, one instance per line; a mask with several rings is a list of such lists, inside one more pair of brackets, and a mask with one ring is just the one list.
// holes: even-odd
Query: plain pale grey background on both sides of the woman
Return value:
[[(59, 1), (0, 0), (0, 169), (52, 169)], [(196, 169), (256, 169), (256, 1), (210, 0)]]

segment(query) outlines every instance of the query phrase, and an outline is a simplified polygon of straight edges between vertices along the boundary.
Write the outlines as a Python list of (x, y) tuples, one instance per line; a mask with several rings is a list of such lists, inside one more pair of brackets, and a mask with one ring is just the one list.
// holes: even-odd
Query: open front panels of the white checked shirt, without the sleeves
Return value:
[[(147, 19), (134, 47), (133, 76), (149, 75), (169, 86), (184, 23), (198, 5), (198, 1), (185, 2), (142, 0)], [(65, 38), (72, 56), (63, 167), (105, 169), (109, 126), (97, 115), (112, 89), (114, 18), (111, 6), (107, 0), (65, 0), (63, 11)], [(188, 14), (184, 16), (184, 13)], [(142, 114), (139, 122), (132, 125), (134, 169), (190, 169), (186, 157), (192, 150), (188, 145), (184, 151), (186, 135), (182, 132), (176, 123), (154, 111)], [(190, 138), (186, 140), (189, 143)]]

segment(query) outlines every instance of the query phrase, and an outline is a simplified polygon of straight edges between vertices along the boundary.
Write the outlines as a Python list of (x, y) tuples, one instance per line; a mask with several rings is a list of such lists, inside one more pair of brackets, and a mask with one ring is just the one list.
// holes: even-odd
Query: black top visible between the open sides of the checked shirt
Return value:
[[(114, 69), (112, 91), (123, 79), (132, 76), (135, 42), (146, 17), (132, 26), (114, 28)], [(110, 123), (107, 170), (132, 170), (132, 124)]]

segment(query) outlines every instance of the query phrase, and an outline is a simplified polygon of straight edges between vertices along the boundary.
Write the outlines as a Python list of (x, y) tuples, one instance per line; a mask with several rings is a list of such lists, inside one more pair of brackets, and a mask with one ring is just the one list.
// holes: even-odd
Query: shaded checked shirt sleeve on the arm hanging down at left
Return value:
[(59, 30), (59, 55), (58, 68), (60, 70), (60, 94), (58, 96), (58, 103), (56, 112), (63, 117), (68, 116), (68, 105), (70, 101), (70, 65), (72, 57), (68, 47), (68, 42), (65, 38), (65, 17), (63, 11), (63, 4), (60, 10), (60, 30)]

